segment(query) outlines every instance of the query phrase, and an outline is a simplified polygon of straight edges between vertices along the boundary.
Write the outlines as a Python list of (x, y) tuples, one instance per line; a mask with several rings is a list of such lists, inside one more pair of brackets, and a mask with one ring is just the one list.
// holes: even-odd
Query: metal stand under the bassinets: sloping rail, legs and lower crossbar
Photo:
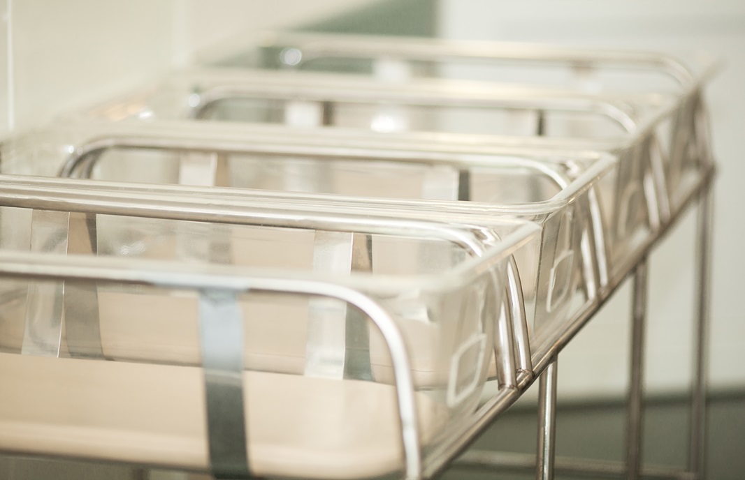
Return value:
[[(454, 467), (463, 468), (481, 468), (490, 470), (535, 470), (537, 478), (553, 478), (546, 472), (551, 472), (550, 465), (554, 465), (554, 471), (561, 471), (562, 473), (568, 473), (575, 476), (602, 476), (603, 478), (653, 478), (653, 479), (697, 479), (703, 480), (705, 477), (705, 465), (703, 459), (706, 455), (706, 359), (708, 352), (708, 330), (709, 330), (709, 316), (708, 308), (711, 298), (710, 294), (710, 272), (711, 268), (711, 220), (712, 220), (712, 203), (711, 197), (713, 195), (714, 186), (714, 167), (710, 167), (706, 173), (702, 176), (695, 188), (688, 191), (685, 194), (681, 202), (679, 210), (674, 211), (671, 214), (671, 218), (668, 223), (662, 225), (662, 229), (659, 235), (653, 239), (647, 241), (644, 249), (638, 257), (627, 263), (627, 272), (635, 272), (635, 289), (634, 289), (634, 306), (633, 315), (634, 323), (636, 324), (633, 334), (632, 348), (635, 351), (632, 360), (631, 371), (631, 384), (630, 384), (630, 403), (629, 413), (627, 417), (627, 458), (623, 462), (612, 462), (612, 461), (591, 461), (579, 458), (553, 458), (554, 452), (539, 450), (539, 461), (536, 464), (536, 457), (532, 455), (513, 455), (513, 454), (501, 454), (494, 452), (480, 452), (480, 451), (469, 451), (461, 455), (460, 458), (454, 461)], [(699, 227), (697, 232), (698, 251), (696, 255), (697, 262), (697, 315), (696, 324), (697, 331), (695, 336), (695, 353), (694, 353), (694, 384), (691, 390), (692, 408), (691, 408), (691, 436), (690, 445), (691, 452), (689, 454), (688, 467), (685, 469), (677, 469), (673, 467), (662, 467), (662, 466), (645, 466), (641, 462), (641, 428), (643, 426), (643, 417), (641, 416), (641, 402), (643, 402), (643, 391), (644, 391), (644, 380), (641, 371), (643, 369), (643, 355), (644, 355), (644, 334), (643, 324), (646, 307), (644, 306), (647, 298), (647, 283), (646, 279), (646, 257), (653, 250), (657, 243), (659, 243), (683, 217), (685, 212), (692, 205), (697, 204), (698, 216), (699, 216)], [(606, 289), (601, 292), (600, 300), (592, 308), (584, 313), (577, 316), (574, 323), (567, 329), (565, 336), (559, 339), (553, 348), (548, 349), (539, 353), (538, 362), (534, 363), (536, 374), (541, 377), (551, 374), (548, 371), (552, 362), (556, 358), (557, 354), (571, 341), (574, 335), (586, 324), (587, 321), (592, 319), (592, 315), (610, 298), (616, 289), (622, 283), (623, 278), (616, 279), (609, 284)], [(548, 380), (547, 380), (548, 381)], [(524, 385), (522, 388), (527, 388)], [(550, 390), (549, 390), (550, 392)], [(499, 412), (504, 411), (510, 406), (519, 395), (511, 401), (507, 400), (506, 405), (499, 409)], [(542, 396), (546, 402), (551, 403), (550, 394)], [(545, 409), (545, 407), (544, 407)], [(545, 410), (544, 410), (545, 411)], [(554, 410), (552, 410), (554, 411)], [(496, 417), (496, 414), (493, 415)], [(493, 418), (492, 417), (492, 418)], [(548, 422), (554, 421), (550, 417), (545, 415), (541, 417), (543, 420), (539, 422), (539, 438), (542, 432), (545, 432), (545, 425)], [(482, 432), (489, 425), (489, 422), (484, 422), (481, 428), (474, 429), (474, 435)], [(467, 443), (465, 443), (461, 449), (465, 449)], [(536, 467), (537, 465), (537, 467)], [(536, 470), (537, 469), (537, 470)], [(427, 470), (429, 471), (429, 470)], [(436, 470), (437, 471), (437, 470)]]

